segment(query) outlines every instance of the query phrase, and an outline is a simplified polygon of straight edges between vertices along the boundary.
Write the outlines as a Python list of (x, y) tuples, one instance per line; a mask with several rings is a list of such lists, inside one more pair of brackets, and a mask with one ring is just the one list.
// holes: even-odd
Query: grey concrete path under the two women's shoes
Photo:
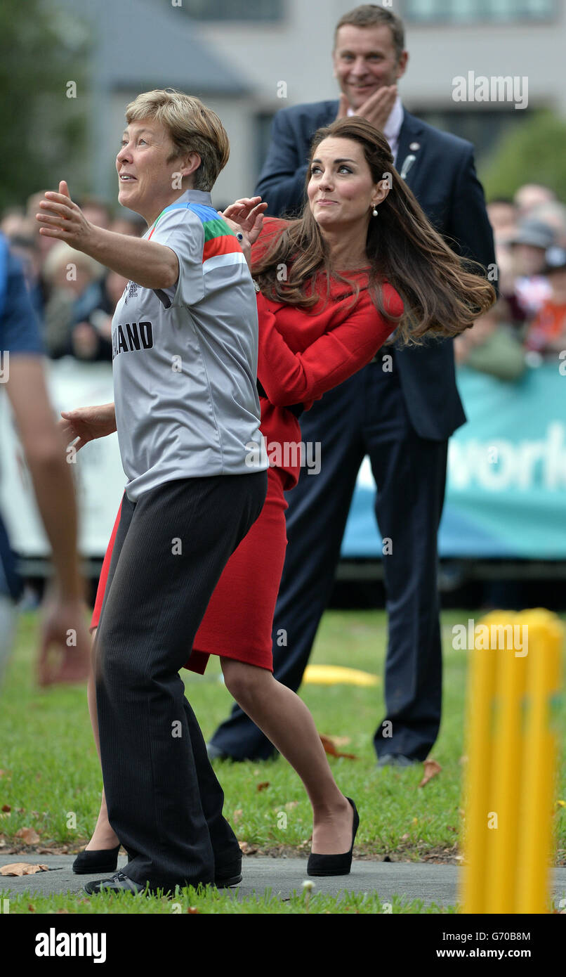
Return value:
[[(0, 855), (0, 866), (13, 862), (40, 863), (49, 866), (50, 871), (35, 875), (0, 875), (0, 898), (19, 892), (49, 895), (57, 892), (82, 892), (85, 882), (95, 875), (74, 875), (72, 863), (74, 855)], [(124, 868), (126, 858), (118, 860), (118, 869)], [(238, 898), (262, 895), (271, 889), (273, 895), (288, 898), (293, 890), (302, 892), (306, 874), (306, 860), (300, 858), (269, 858), (249, 856), (243, 860), (243, 881), (238, 886)], [(406, 899), (422, 899), (425, 904), (454, 906), (458, 900), (458, 875), (460, 869), (453, 865), (430, 865), (413, 862), (368, 862), (354, 861), (349, 875), (313, 878), (313, 892), (336, 895), (341, 890), (349, 892), (378, 892), (384, 902), (390, 902), (394, 895)], [(107, 877), (107, 876), (106, 876)], [(566, 899), (566, 868), (553, 870), (552, 891), (557, 906), (560, 899)], [(564, 904), (566, 905), (566, 904)]]

